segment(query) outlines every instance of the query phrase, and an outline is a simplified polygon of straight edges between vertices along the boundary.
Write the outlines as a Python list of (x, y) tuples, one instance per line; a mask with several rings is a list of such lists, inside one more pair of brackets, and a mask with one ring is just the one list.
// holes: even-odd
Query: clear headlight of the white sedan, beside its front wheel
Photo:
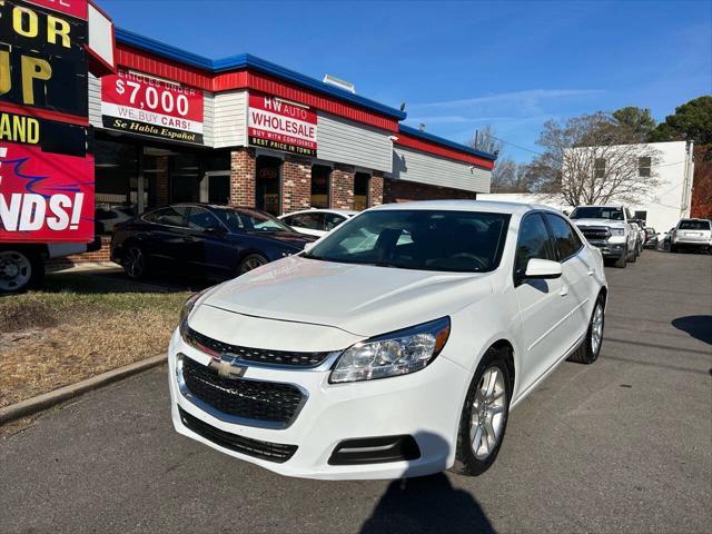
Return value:
[(415, 373), (443, 350), (449, 336), (449, 317), (374, 337), (344, 350), (329, 382), (373, 380)]

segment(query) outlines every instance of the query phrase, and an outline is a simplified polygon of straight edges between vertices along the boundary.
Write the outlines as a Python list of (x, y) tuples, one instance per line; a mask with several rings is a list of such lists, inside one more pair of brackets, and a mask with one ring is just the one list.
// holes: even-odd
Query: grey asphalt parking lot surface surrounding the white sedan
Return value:
[(0, 532), (709, 532), (712, 256), (607, 268), (605, 340), (477, 478), (284, 478), (177, 435), (166, 369), (0, 437)]

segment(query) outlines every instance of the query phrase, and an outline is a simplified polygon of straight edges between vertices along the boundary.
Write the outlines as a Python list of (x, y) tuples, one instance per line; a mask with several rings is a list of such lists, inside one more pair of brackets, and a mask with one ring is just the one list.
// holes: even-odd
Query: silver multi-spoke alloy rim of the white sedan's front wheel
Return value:
[(502, 439), (506, 406), (504, 375), (498, 367), (487, 367), (477, 384), (469, 424), (469, 443), (477, 459), (487, 458)]

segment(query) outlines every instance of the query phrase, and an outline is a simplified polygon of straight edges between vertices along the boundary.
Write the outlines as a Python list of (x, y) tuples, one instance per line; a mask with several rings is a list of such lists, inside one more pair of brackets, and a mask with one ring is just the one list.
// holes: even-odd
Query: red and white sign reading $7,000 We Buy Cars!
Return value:
[(105, 128), (202, 144), (202, 91), (140, 72), (101, 79)]

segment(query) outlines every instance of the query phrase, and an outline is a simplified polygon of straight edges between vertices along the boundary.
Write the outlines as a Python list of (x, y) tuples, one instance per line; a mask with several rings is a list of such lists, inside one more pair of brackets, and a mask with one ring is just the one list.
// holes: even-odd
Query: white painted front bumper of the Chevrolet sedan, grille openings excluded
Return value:
[[(207, 365), (210, 357), (184, 343), (176, 332), (168, 353), (174, 426), (178, 433), (217, 451), (286, 476), (365, 479), (438, 473), (454, 463), (462, 403), (472, 379), (469, 372), (444, 357), (444, 353), (425, 369), (409, 375), (348, 384), (329, 384), (328, 369), (248, 366), (243, 378), (293, 384), (306, 395), (306, 402), (286, 428), (269, 428), (238, 424), (217, 411), (202, 409), (199, 400), (196, 403), (189, 392), (186, 394), (180, 384), (180, 358)], [(196, 424), (190, 424), (195, 423), (192, 418), (199, 422), (198, 432)], [(207, 432), (200, 432), (200, 424), (207, 425), (204, 428)], [(296, 452), (279, 463), (222, 446), (219, 436), (238, 436), (270, 446), (293, 445)], [(419, 457), (329, 464), (342, 442), (379, 436), (412, 436)]]

